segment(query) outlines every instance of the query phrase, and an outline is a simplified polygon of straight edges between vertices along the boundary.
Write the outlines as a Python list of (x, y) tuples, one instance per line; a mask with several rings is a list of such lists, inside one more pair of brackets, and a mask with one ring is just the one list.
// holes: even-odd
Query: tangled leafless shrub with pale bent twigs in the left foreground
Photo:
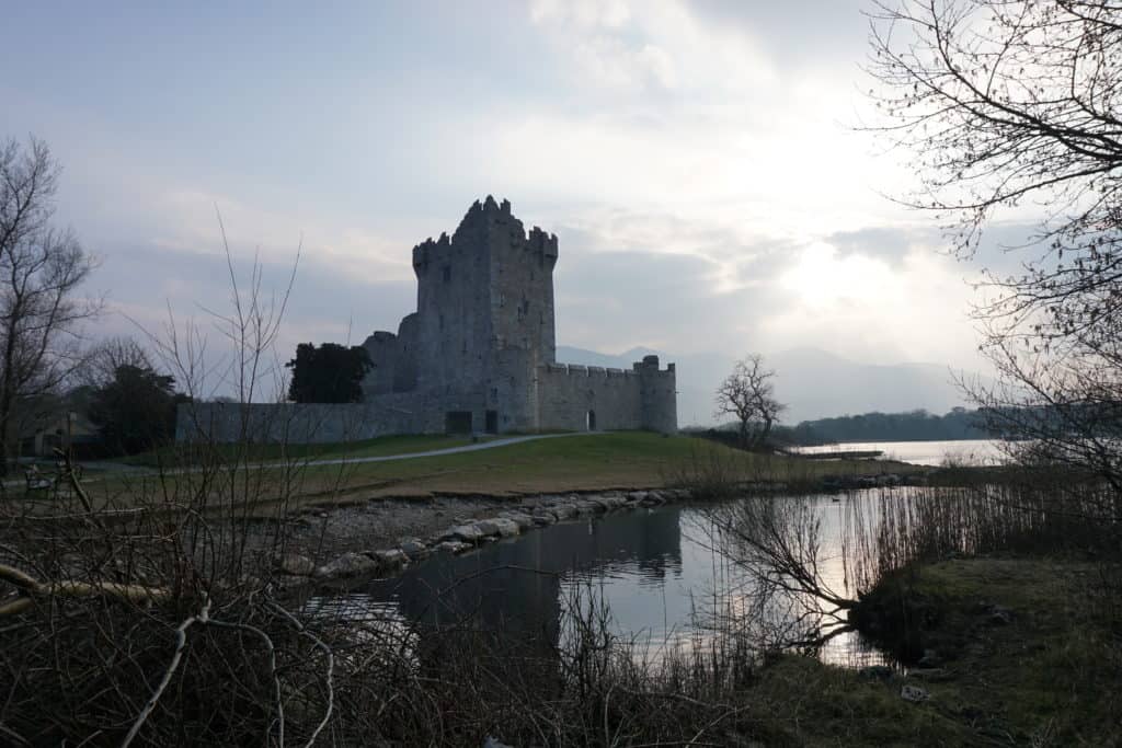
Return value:
[[(276, 370), (287, 293), (267, 302), (259, 265), (248, 287), (229, 268), (233, 313), (218, 320), (236, 350), (218, 375), (248, 401)], [(196, 394), (215, 370), (199, 329), (186, 330), (172, 320), (154, 342)], [(261, 464), (248, 432), (192, 447), (167, 451), (154, 474), (95, 482), (66, 461), (49, 502), (0, 507), (6, 740), (283, 746), (330, 735), (337, 647), (353, 640), (338, 620), (289, 609), (273, 570), (306, 471), (283, 452)]]

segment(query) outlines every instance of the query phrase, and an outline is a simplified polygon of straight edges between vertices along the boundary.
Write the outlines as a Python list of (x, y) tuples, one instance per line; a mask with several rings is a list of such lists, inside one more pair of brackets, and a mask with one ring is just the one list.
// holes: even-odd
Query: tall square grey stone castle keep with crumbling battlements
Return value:
[(472, 412), (477, 431), (536, 428), (534, 371), (557, 351), (557, 259), (555, 236), (527, 236), (511, 203), (489, 195), (451, 237), (417, 244), (417, 389)]

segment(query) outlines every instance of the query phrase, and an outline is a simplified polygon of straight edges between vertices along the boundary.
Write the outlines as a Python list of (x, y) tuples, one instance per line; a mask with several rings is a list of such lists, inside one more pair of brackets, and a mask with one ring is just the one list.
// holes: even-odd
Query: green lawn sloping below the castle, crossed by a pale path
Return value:
[[(307, 464), (315, 459), (407, 454), (466, 444), (444, 436), (404, 436), (347, 445), (289, 450), (289, 459), (272, 467), (250, 464), (200, 473), (187, 469), (166, 475), (118, 473), (91, 481), (100, 504), (136, 506), (140, 497), (197, 496), (249, 499), (269, 511), (274, 499), (298, 504), (347, 504), (371, 498), (440, 495), (553, 493), (601, 489), (640, 489), (679, 484), (697, 475), (778, 481), (792, 489), (815, 486), (825, 474), (907, 472), (910, 467), (875, 461), (821, 461), (748, 454), (711, 441), (650, 432), (573, 434), (488, 450), (341, 465)], [(302, 456), (295, 456), (298, 453)], [(279, 456), (279, 451), (268, 453)], [(257, 453), (264, 458), (265, 454)], [(250, 461), (252, 463), (252, 461)], [(245, 462), (241, 463), (245, 465)], [(228, 501), (228, 499), (227, 499)]]

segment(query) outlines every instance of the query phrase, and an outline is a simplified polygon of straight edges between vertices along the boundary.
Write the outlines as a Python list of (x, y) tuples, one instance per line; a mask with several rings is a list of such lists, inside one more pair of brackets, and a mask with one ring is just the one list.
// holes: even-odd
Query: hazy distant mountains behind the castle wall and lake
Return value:
[[(678, 364), (678, 424), (712, 424), (712, 394), (736, 357), (724, 353), (674, 355), (634, 348), (618, 355), (558, 345), (561, 363), (629, 369), (644, 355), (655, 354), (665, 367)], [(969, 405), (954, 384), (948, 367), (936, 363), (880, 366), (850, 361), (816, 348), (795, 348), (765, 354), (775, 370), (775, 395), (789, 409), (783, 423), (858, 413), (899, 413), (919, 408), (942, 414)]]

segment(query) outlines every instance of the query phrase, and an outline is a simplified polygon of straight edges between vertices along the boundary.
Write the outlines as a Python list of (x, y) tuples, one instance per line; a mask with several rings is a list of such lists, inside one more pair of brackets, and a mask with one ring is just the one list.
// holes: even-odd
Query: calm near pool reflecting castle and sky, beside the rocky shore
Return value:
[[(847, 502), (812, 497), (822, 519), (822, 578), (842, 594), (840, 528)], [(439, 554), (399, 576), (377, 580), (318, 607), (349, 618), (469, 625), (484, 630), (543, 635), (557, 643), (574, 594), (603, 600), (610, 628), (636, 650), (659, 657), (709, 636), (712, 612), (735, 608), (746, 575), (715, 553), (699, 508), (668, 506), (559, 523), (460, 555)], [(881, 654), (856, 634), (843, 634), (820, 656), (865, 665)]]

